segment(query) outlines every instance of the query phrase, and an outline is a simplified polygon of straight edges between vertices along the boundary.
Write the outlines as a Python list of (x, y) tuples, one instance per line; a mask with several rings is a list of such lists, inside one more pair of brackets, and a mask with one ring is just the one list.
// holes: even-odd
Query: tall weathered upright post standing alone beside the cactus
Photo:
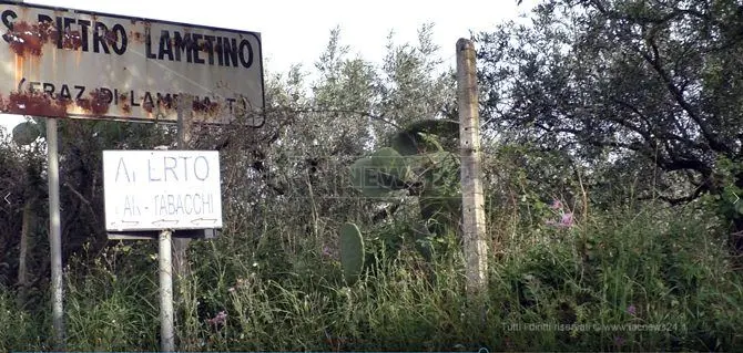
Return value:
[(475, 44), (457, 41), (457, 98), (461, 153), (462, 230), (467, 260), (467, 292), (476, 299), (485, 292), (488, 248), (485, 201), (480, 180), (480, 118), (478, 113)]

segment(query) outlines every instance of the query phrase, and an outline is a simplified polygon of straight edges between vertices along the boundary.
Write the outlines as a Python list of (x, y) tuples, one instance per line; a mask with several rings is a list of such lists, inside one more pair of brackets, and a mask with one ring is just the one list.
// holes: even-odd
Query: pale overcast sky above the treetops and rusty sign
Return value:
[[(294, 63), (313, 68), (325, 49), (329, 33), (340, 27), (340, 40), (365, 59), (384, 56), (387, 34), (396, 33), (396, 42), (415, 42), (417, 30), (435, 23), (434, 34), (441, 56), (455, 64), (457, 39), (469, 31), (490, 30), (505, 19), (527, 11), (536, 0), (517, 7), (516, 0), (35, 0), (67, 9), (89, 10), (261, 32), (264, 66), (268, 72), (285, 72)], [(7, 46), (4, 50), (8, 50)], [(451, 53), (448, 55), (447, 53)], [(0, 115), (0, 123), (13, 126), (22, 118)], [(10, 129), (12, 127), (9, 127)]]

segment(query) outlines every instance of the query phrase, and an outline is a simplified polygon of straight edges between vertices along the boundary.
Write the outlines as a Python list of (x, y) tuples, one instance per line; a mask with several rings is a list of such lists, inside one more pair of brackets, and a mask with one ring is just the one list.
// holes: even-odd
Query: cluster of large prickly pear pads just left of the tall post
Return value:
[(352, 185), (367, 198), (390, 203), (405, 195), (418, 198), (420, 222), (414, 227), (414, 239), (428, 261), (431, 239), (456, 233), (461, 216), (458, 137), (458, 122), (418, 121), (393, 135), (391, 147), (350, 166)]

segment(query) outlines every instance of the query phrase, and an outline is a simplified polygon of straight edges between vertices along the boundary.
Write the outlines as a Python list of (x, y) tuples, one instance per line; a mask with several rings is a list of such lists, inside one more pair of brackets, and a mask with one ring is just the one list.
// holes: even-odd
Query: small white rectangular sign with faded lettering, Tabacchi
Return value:
[(222, 228), (216, 150), (103, 150), (108, 231)]

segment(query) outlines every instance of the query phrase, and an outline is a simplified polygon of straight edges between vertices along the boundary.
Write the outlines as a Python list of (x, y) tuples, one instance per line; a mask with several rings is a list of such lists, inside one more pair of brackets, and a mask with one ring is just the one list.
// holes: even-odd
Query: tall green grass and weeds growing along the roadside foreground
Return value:
[[(293, 238), (295, 251), (283, 246), (289, 229), (281, 226), (259, 237), (228, 230), (200, 240), (191, 249), (192, 276), (179, 281), (179, 347), (730, 351), (743, 344), (743, 279), (705, 214), (648, 205), (594, 212), (569, 228), (502, 219), (492, 224), (508, 229), (491, 231), (509, 236), (493, 243), (484, 320), (468, 314), (456, 253), (429, 266), (407, 249), (379, 252), (364, 278), (346, 287), (337, 255), (323, 249), (332, 227)], [(146, 242), (118, 245), (93, 267), (71, 266), (71, 349), (157, 350), (154, 251)], [(14, 309), (10, 293), (0, 297), (2, 349), (43, 349), (45, 319)]]

